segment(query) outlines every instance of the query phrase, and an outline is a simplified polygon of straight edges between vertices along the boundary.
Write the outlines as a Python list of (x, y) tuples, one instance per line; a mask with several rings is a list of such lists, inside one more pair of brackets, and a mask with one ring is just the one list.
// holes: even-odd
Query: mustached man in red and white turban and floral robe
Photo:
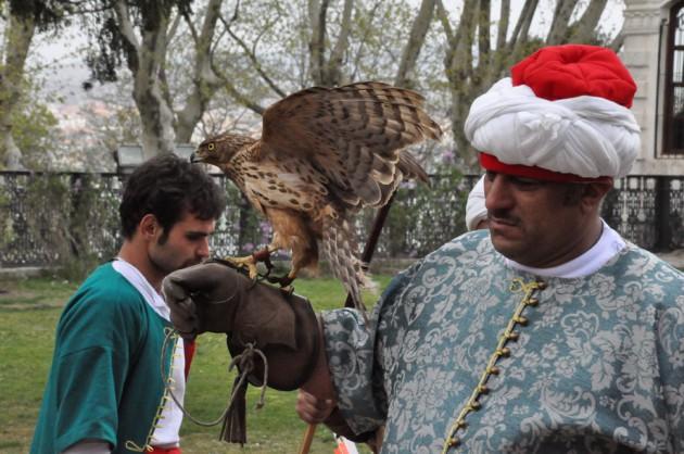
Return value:
[(368, 321), (320, 314), (300, 416), (384, 426), (383, 453), (683, 453), (684, 275), (599, 217), (639, 149), (635, 91), (612, 51), (568, 45), (479, 97), (489, 231), (398, 275)]

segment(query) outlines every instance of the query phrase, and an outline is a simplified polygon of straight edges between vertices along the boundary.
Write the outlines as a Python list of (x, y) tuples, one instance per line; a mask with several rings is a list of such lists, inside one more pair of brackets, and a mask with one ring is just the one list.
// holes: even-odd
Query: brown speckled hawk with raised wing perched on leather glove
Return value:
[(319, 244), (330, 268), (363, 307), (368, 285), (357, 256), (353, 216), (388, 203), (407, 178), (428, 175), (405, 147), (442, 130), (415, 91), (378, 81), (313, 87), (270, 105), (262, 137), (221, 134), (204, 140), (193, 162), (219, 167), (270, 223), (274, 236), (261, 253), (232, 258), (256, 277), (256, 261), (291, 251), (288, 285), (303, 267), (316, 267)]

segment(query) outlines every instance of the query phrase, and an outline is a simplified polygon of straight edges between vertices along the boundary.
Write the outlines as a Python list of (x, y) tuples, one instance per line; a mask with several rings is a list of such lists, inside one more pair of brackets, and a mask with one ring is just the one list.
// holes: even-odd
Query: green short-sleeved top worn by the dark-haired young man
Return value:
[(31, 454), (60, 453), (84, 439), (106, 441), (113, 453), (131, 452), (127, 442), (144, 446), (164, 393), (166, 327), (111, 263), (97, 268), (58, 324)]

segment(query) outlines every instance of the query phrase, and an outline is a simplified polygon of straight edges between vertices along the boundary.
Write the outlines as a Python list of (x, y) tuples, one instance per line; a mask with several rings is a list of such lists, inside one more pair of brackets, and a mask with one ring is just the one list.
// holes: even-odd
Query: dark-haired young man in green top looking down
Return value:
[[(160, 373), (170, 332), (160, 286), (168, 273), (208, 256), (224, 207), (212, 178), (175, 155), (131, 174), (119, 206), (119, 253), (86, 279), (58, 324), (31, 453), (180, 452), (182, 414)], [(164, 369), (179, 399), (182, 352), (182, 339), (170, 338)]]

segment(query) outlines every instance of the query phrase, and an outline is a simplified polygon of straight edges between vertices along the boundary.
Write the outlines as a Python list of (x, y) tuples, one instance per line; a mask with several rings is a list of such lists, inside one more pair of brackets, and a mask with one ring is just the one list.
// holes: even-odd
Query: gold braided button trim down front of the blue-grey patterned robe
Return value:
[(512, 293), (523, 293), (522, 300), (520, 300), (520, 303), (518, 304), (518, 306), (514, 311), (512, 316), (508, 320), (508, 325), (498, 339), (496, 349), (494, 350), (494, 353), (492, 353), (492, 355), (490, 356), (486, 367), (482, 371), (480, 380), (478, 381), (476, 388), (472, 390), (468, 402), (460, 409), (460, 412), (458, 413), (458, 417), (448, 429), (442, 447), (442, 454), (446, 454), (451, 449), (457, 449), (460, 445), (460, 439), (457, 437), (458, 431), (467, 427), (466, 417), (468, 416), (468, 414), (471, 412), (477, 412), (482, 407), (480, 398), (484, 394), (487, 394), (490, 391), (486, 386), (487, 380), (492, 375), (498, 375), (501, 373), (499, 367), (496, 366), (496, 362), (501, 357), (510, 356), (510, 349), (507, 346), (507, 344), (509, 342), (517, 341), (519, 337), (519, 333), (514, 331), (514, 329), (517, 326), (524, 327), (528, 325), (528, 319), (522, 315), (522, 313), (525, 307), (536, 306), (539, 304), (539, 300), (534, 298), (533, 294), (537, 290), (543, 290), (544, 288), (546, 288), (546, 283), (543, 281), (524, 282), (520, 278), (512, 279), (509, 290)]

